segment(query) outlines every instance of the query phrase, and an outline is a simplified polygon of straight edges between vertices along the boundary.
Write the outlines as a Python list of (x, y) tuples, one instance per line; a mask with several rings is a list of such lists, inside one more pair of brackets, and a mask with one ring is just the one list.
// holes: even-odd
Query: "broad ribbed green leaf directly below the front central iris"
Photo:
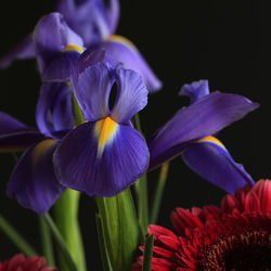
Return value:
[(96, 197), (113, 270), (130, 271), (140, 243), (140, 228), (130, 189), (114, 197)]

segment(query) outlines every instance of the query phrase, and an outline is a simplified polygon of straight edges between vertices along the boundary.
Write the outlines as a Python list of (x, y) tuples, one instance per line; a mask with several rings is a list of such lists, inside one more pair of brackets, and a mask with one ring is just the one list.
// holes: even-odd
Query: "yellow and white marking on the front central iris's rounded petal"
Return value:
[(117, 132), (118, 124), (111, 117), (96, 121), (94, 133), (98, 138), (98, 156), (101, 157), (106, 144), (109, 144)]

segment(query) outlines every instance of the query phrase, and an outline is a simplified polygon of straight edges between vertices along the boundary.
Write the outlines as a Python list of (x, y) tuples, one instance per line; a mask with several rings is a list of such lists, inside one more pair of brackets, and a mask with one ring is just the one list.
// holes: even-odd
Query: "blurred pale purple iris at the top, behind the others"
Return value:
[(100, 47), (106, 51), (106, 57), (139, 73), (149, 91), (162, 88), (162, 82), (132, 42), (114, 35), (119, 17), (118, 0), (109, 0), (108, 5), (104, 0), (59, 0), (56, 11), (67, 23), (59, 13), (41, 18), (34, 34), (0, 60), (0, 68), (8, 67), (16, 59), (36, 56), (43, 80), (67, 81), (83, 46), (90, 48), (90, 52)]

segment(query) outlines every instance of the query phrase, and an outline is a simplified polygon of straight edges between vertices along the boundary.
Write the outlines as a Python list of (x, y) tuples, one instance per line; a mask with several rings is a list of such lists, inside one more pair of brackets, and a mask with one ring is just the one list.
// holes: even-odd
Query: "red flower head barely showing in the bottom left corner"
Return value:
[(55, 268), (47, 268), (46, 264), (43, 257), (25, 258), (23, 254), (18, 254), (4, 262), (0, 261), (0, 271), (57, 271)]

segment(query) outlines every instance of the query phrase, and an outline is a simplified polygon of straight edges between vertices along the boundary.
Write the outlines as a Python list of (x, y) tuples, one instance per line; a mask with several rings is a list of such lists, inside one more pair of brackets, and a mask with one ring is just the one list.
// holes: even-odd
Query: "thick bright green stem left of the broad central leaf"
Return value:
[[(86, 259), (78, 223), (78, 205), (80, 193), (75, 190), (66, 190), (54, 205), (55, 223), (63, 235), (67, 248), (78, 270), (86, 271)], [(61, 266), (65, 268), (65, 261), (61, 257)], [(64, 268), (62, 268), (64, 270)], [(61, 270), (62, 270), (61, 269)]]

